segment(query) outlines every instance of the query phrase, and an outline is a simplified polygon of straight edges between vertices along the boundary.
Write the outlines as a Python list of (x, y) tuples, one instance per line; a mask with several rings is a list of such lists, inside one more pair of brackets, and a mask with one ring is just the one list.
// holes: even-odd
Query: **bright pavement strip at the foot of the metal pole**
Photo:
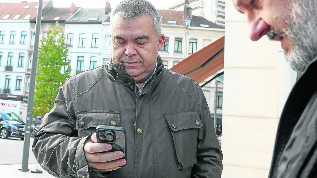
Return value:
[(30, 169), (28, 172), (22, 172), (18, 169), (21, 169), (21, 164), (4, 164), (0, 165), (0, 173), (1, 177), (5, 178), (54, 178), (53, 175), (47, 173), (41, 166), (39, 166), (39, 170), (43, 171), (43, 173), (31, 173), (31, 171), (36, 171), (36, 163), (29, 163), (28, 168)]

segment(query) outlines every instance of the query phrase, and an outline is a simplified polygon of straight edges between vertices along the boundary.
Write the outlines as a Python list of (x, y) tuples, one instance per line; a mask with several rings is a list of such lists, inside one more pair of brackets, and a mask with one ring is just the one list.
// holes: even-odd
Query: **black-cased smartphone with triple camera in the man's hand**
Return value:
[(109, 143), (112, 149), (109, 151), (122, 151), (126, 159), (126, 130), (123, 127), (99, 125), (96, 128), (98, 143)]

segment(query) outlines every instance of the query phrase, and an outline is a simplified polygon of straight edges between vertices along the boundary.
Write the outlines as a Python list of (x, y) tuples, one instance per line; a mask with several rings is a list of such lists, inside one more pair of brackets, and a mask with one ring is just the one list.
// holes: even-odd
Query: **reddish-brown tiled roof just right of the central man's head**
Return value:
[(176, 24), (173, 25), (186, 25), (184, 21), (184, 12), (177, 10), (158, 10), (161, 18), (162, 24), (170, 24), (168, 20), (175, 20)]

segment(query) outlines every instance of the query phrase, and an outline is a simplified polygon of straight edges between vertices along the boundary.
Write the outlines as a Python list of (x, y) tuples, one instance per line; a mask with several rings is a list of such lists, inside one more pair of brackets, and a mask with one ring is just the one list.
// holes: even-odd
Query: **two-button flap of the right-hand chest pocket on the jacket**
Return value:
[(204, 127), (195, 109), (167, 112), (163, 115), (172, 131)]

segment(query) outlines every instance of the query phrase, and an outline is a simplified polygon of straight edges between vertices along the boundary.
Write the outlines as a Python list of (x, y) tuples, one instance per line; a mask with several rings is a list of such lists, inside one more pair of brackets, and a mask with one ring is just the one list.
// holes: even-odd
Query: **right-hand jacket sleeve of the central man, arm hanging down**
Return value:
[(203, 91), (198, 86), (198, 101), (202, 106), (200, 118), (204, 127), (199, 128), (197, 138), (197, 163), (193, 166), (192, 178), (220, 178), (223, 169), (222, 151)]

